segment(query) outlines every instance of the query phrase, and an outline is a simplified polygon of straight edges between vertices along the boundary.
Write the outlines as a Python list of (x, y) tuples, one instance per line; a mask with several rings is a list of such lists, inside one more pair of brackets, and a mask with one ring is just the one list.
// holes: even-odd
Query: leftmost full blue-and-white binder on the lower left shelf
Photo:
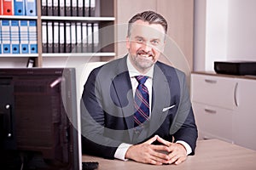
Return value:
[(10, 54), (10, 25), (9, 20), (2, 20), (3, 54)]

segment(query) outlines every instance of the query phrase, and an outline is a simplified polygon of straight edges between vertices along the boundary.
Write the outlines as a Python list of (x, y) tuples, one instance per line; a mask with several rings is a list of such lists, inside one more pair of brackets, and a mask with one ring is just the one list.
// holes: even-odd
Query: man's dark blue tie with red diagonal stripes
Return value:
[(134, 105), (134, 126), (142, 124), (149, 119), (148, 88), (144, 85), (148, 77), (135, 77), (139, 83), (135, 92)]

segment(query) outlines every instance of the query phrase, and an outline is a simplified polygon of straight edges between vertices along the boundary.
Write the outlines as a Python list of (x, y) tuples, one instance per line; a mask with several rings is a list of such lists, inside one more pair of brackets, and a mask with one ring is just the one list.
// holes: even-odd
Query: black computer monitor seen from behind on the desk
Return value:
[(0, 69), (0, 168), (79, 169), (75, 69)]

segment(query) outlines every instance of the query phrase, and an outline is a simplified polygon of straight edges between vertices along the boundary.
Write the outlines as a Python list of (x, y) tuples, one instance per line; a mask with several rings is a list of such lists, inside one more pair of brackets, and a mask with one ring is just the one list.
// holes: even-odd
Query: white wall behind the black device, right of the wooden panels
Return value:
[(256, 61), (255, 0), (195, 0), (194, 71), (215, 60)]

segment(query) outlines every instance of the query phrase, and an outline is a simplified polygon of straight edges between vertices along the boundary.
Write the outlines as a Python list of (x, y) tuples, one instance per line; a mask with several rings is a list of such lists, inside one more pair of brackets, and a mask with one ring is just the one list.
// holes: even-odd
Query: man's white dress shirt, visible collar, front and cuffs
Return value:
[[(127, 57), (127, 68), (128, 68), (129, 75), (131, 78), (131, 88), (132, 88), (132, 92), (133, 92), (133, 96), (134, 96), (137, 85), (138, 85), (137, 79), (135, 77), (142, 75), (142, 74), (139, 71), (137, 71), (133, 65), (131, 65), (130, 55), (128, 55), (128, 57)], [(144, 85), (148, 88), (149, 108), (151, 108), (151, 103), (152, 103), (150, 101), (152, 100), (153, 73), (154, 73), (154, 66), (152, 66), (151, 69), (145, 75), (142, 75), (142, 76), (148, 77), (148, 79), (144, 83)], [(151, 115), (151, 109), (149, 109), (149, 117), (150, 117), (150, 115)], [(189, 155), (192, 152), (191, 147), (186, 142), (177, 140), (177, 143), (183, 144), (183, 146), (187, 150), (187, 155)], [(125, 153), (131, 145), (132, 144), (125, 144), (125, 143), (120, 144), (118, 149), (114, 153), (114, 157), (117, 159), (126, 161), (127, 159), (125, 159)]]

